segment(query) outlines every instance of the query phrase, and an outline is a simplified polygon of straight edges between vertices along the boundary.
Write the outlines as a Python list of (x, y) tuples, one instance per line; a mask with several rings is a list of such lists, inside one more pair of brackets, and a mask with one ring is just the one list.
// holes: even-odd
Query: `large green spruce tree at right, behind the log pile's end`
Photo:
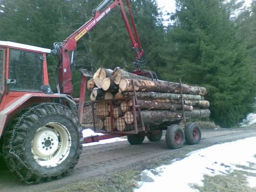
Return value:
[(231, 127), (252, 110), (255, 96), (246, 42), (222, 1), (176, 2), (175, 23), (168, 29), (176, 56), (172, 79), (207, 87), (211, 118)]

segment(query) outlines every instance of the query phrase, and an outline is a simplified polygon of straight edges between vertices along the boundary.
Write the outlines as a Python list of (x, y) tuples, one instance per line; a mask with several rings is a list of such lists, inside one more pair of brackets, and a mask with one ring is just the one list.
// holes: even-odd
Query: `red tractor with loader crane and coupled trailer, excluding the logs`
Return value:
[[(129, 125), (120, 125), (117, 129), (113, 121), (113, 107), (121, 100), (104, 100), (109, 106), (110, 120), (102, 129), (97, 124), (101, 114), (95, 108), (102, 101), (93, 101), (94, 131), (106, 134), (83, 138), (82, 129), (86, 127), (82, 128), (81, 124), (86, 81), (92, 74), (85, 69), (80, 70), (80, 98), (73, 98), (74, 50), (77, 41), (116, 6), (120, 7), (135, 51), (134, 73), (151, 74), (156, 79), (155, 73), (140, 70), (144, 51), (129, 0), (126, 0), (126, 6), (133, 30), (122, 0), (104, 0), (93, 10), (92, 19), (63, 42), (54, 43), (54, 50), (0, 41), (0, 155), (10, 170), (27, 184), (55, 180), (69, 174), (79, 159), (83, 143), (127, 135), (130, 144), (141, 144), (145, 136), (150, 141), (160, 140), (162, 130), (167, 130), (166, 143), (170, 148), (182, 147), (185, 137), (189, 144), (199, 143), (201, 132), (196, 123), (188, 123), (184, 131), (177, 125), (180, 120), (168, 120), (161, 125), (144, 123), (135, 91), (133, 96), (121, 100), (132, 100), (132, 111), (139, 118), (131, 120), (127, 117), (125, 120), (130, 120)], [(55, 55), (58, 60), (55, 77), (57, 93), (53, 93), (49, 86), (48, 54)]]

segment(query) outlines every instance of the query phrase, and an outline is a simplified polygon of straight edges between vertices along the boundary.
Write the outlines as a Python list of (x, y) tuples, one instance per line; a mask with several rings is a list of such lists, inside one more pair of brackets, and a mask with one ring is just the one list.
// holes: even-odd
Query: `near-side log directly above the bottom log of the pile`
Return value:
[[(176, 111), (176, 110), (182, 109), (181, 103), (173, 104), (173, 103), (163, 103), (163, 102), (156, 102), (156, 101), (138, 100), (138, 105), (140, 106), (140, 109), (142, 109), (142, 110), (163, 109), (163, 110)], [(133, 106), (132, 100), (129, 101), (129, 106)], [(185, 110), (193, 110), (193, 107), (184, 105), (184, 109)]]

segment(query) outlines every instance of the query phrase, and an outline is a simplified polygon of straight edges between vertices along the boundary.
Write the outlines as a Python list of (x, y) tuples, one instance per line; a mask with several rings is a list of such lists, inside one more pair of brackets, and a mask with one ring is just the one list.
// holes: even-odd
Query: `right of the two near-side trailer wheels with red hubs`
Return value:
[(187, 144), (199, 144), (201, 140), (201, 129), (197, 123), (190, 122), (185, 126), (185, 140)]

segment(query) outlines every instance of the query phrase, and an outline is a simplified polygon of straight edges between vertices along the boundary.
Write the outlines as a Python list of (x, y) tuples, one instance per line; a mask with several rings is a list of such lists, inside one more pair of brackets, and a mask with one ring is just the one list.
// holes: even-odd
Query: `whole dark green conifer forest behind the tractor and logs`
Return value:
[[(101, 0), (2, 0), (0, 39), (53, 48), (91, 18)], [(221, 126), (237, 124), (252, 110), (256, 69), (256, 0), (233, 17), (241, 3), (231, 0), (176, 0), (168, 27), (156, 0), (131, 0), (135, 23), (148, 58), (143, 69), (158, 77), (206, 86), (211, 118)], [(128, 12), (126, 10), (126, 12)], [(120, 66), (132, 71), (135, 55), (118, 8), (82, 38), (75, 52), (74, 96), (80, 68)], [(54, 87), (56, 61), (48, 57)]]

